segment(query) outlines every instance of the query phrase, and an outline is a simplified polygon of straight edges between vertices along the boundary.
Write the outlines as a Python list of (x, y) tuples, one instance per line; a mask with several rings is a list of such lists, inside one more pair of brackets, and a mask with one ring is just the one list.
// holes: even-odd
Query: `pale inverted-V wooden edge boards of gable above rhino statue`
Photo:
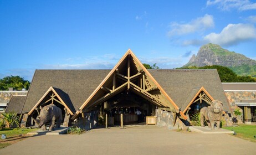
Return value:
[(40, 104), (42, 104), (42, 101), (45, 99), (45, 97), (50, 93), (53, 92), (54, 95), (58, 98), (58, 100), (56, 100), (53, 97), (54, 101), (57, 101), (59, 104), (63, 105), (66, 110), (68, 111), (68, 113), (70, 113), (70, 115), (74, 115), (74, 113), (70, 110), (69, 106), (67, 106), (67, 104), (63, 101), (63, 99), (60, 97), (60, 95), (57, 93), (57, 91), (55, 91), (54, 87), (50, 86), (50, 88), (45, 92), (45, 94), (41, 97), (41, 99), (37, 102), (37, 104), (35, 104), (35, 106), (28, 112), (28, 115), (31, 115), (32, 112), (35, 110), (35, 108), (37, 108)]

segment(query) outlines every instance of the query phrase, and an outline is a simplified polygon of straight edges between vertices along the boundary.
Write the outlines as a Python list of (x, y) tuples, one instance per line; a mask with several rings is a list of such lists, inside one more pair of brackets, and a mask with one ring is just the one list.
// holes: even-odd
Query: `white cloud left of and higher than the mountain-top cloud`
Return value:
[(214, 27), (213, 17), (209, 14), (205, 14), (203, 17), (198, 17), (197, 19), (191, 20), (187, 24), (172, 23), (171, 30), (168, 32), (168, 36), (173, 35), (184, 35), (189, 33), (194, 33), (197, 31), (202, 31), (208, 28)]

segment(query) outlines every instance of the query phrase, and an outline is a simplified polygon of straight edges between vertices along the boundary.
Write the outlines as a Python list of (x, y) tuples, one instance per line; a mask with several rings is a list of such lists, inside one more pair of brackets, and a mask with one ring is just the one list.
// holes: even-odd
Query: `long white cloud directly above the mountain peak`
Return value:
[(210, 33), (202, 40), (185, 40), (183, 45), (199, 45), (206, 43), (231, 46), (256, 38), (256, 29), (250, 24), (228, 24), (221, 33)]

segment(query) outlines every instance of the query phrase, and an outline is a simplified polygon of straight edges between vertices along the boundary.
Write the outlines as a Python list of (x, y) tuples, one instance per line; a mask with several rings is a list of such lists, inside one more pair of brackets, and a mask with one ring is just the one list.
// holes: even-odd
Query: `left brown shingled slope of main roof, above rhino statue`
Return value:
[[(52, 86), (60, 97), (78, 110), (110, 70), (35, 70), (22, 110), (29, 112)], [(71, 103), (70, 103), (70, 102)]]

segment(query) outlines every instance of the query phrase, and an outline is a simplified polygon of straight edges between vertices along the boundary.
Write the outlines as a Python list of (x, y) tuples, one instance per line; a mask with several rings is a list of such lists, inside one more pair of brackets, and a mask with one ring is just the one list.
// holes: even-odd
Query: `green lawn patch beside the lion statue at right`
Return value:
[(245, 140), (256, 142), (256, 126), (255, 125), (239, 125), (237, 127), (223, 127), (227, 130), (233, 130), (235, 133), (237, 133), (237, 136), (239, 138), (243, 138)]

